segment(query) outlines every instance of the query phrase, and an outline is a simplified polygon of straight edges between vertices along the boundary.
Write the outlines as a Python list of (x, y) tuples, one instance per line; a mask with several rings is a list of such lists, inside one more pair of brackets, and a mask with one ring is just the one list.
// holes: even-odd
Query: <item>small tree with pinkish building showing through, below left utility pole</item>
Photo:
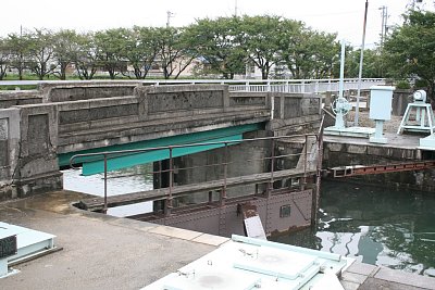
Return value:
[(159, 59), (163, 70), (163, 77), (178, 76), (191, 64), (197, 56), (195, 49), (188, 42), (183, 28), (157, 28), (159, 34)]

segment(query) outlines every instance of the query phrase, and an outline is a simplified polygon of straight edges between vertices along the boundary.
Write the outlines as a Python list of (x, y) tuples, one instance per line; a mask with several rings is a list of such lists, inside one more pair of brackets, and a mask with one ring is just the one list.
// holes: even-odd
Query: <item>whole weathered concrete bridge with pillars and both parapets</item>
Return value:
[(320, 124), (319, 96), (229, 93), (222, 85), (86, 81), (7, 94), (0, 96), (0, 200), (61, 189), (60, 165), (87, 150), (249, 124), (278, 135)]

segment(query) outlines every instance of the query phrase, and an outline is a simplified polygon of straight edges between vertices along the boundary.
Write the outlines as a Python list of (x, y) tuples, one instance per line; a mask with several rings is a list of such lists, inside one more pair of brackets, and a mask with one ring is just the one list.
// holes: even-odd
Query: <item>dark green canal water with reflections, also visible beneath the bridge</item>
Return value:
[[(109, 174), (108, 194), (152, 189), (150, 165)], [(102, 175), (83, 177), (64, 171), (65, 189), (103, 194)], [(125, 216), (152, 210), (152, 203), (109, 211)], [(273, 240), (338, 253), (363, 263), (435, 276), (435, 196), (348, 182), (322, 184), (321, 212), (315, 230)]]

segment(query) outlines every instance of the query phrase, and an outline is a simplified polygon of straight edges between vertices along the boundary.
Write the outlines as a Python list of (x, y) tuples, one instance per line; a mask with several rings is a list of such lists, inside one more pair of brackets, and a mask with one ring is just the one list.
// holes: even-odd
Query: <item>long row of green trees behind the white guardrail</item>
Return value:
[[(0, 39), (0, 79), (8, 70), (18, 78), (125, 77), (144, 79), (150, 72), (178, 78), (188, 67), (201, 76), (234, 78), (257, 67), (262, 78), (328, 78), (339, 74), (335, 34), (279, 16), (197, 20), (187, 27), (111, 28), (79, 34), (46, 29)], [(359, 51), (348, 48), (346, 76), (358, 75)], [(364, 77), (383, 74), (378, 51), (364, 51)], [(272, 67), (275, 67), (272, 71)], [(67, 76), (69, 70), (75, 70)], [(2, 72), (4, 72), (2, 74)], [(97, 72), (103, 72), (97, 76)], [(70, 73), (71, 74), (71, 73)]]

